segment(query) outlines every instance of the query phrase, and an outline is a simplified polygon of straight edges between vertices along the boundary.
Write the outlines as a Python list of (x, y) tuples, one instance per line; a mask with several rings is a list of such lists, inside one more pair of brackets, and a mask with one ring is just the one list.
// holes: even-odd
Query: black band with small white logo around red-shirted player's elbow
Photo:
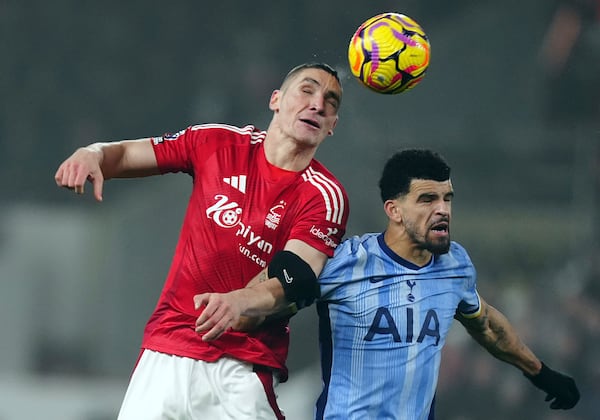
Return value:
[(276, 277), (288, 302), (298, 309), (309, 306), (319, 295), (317, 276), (302, 258), (291, 251), (280, 251), (268, 267), (269, 278)]

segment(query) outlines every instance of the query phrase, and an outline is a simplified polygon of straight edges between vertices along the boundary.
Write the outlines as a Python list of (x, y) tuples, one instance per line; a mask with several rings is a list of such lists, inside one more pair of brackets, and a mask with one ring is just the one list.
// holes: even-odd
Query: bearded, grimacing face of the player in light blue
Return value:
[(402, 224), (414, 245), (434, 254), (450, 249), (452, 182), (414, 179), (399, 200)]

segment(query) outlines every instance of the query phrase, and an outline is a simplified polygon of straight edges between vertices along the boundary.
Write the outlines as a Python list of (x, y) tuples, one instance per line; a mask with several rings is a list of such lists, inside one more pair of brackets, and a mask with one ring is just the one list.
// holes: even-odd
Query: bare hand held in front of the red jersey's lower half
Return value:
[(202, 340), (211, 341), (219, 338), (228, 329), (247, 330), (255, 325), (251, 318), (243, 317), (239, 291), (229, 293), (202, 293), (194, 296), (194, 307), (202, 313), (196, 319), (195, 330), (204, 333)]

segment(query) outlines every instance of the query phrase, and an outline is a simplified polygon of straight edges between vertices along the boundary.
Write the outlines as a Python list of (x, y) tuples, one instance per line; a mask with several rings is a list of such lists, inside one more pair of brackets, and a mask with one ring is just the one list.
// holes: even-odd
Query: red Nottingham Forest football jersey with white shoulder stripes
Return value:
[(271, 165), (265, 136), (253, 126), (205, 124), (152, 139), (161, 172), (188, 173), (193, 189), (142, 347), (206, 361), (228, 355), (279, 369), (285, 380), (286, 322), (212, 342), (194, 331), (194, 295), (244, 287), (289, 239), (332, 256), (345, 233), (342, 185), (314, 159), (301, 172)]

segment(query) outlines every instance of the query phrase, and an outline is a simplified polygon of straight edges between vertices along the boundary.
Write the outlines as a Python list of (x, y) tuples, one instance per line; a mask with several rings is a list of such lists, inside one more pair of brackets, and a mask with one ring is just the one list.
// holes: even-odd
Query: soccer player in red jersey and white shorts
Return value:
[[(161, 137), (94, 143), (59, 166), (57, 185), (82, 194), (90, 181), (98, 201), (110, 178), (167, 172), (193, 178), (120, 420), (284, 418), (274, 387), (287, 379), (287, 318), (230, 317), (222, 335), (207, 338), (196, 332), (196, 322), (212, 309), (194, 296), (244, 288), (252, 280), (285, 287), (288, 302), (299, 307), (314, 298), (316, 281), (296, 285), (296, 279), (320, 273), (348, 218), (343, 186), (314, 159), (333, 134), (341, 98), (334, 69), (303, 64), (273, 91), (267, 131), (195, 125)], [(246, 289), (261, 298), (263, 289)]]

